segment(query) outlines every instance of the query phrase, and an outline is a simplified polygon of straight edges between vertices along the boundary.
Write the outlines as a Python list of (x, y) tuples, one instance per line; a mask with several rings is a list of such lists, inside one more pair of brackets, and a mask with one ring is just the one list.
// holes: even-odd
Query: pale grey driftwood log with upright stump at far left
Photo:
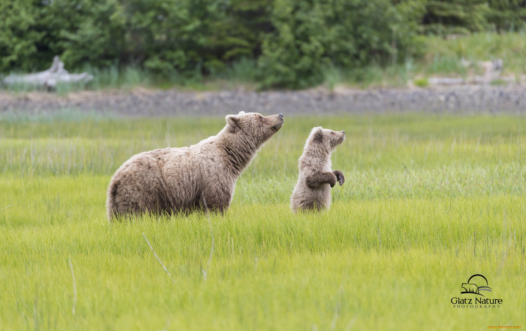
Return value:
[(4, 84), (28, 84), (43, 87), (55, 87), (57, 83), (87, 83), (93, 79), (88, 73), (70, 74), (64, 69), (64, 62), (58, 55), (53, 58), (53, 65), (42, 72), (27, 75), (9, 75), (4, 78)]

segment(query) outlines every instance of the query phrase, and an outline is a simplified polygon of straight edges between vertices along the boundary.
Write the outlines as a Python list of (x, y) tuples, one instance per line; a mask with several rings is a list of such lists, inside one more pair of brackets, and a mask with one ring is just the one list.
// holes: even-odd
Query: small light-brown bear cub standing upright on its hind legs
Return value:
[(336, 182), (343, 185), (340, 170), (331, 170), (330, 155), (345, 140), (345, 131), (334, 132), (321, 126), (310, 132), (303, 154), (299, 158), (299, 178), (290, 197), (294, 212), (307, 209), (328, 209), (330, 188)]

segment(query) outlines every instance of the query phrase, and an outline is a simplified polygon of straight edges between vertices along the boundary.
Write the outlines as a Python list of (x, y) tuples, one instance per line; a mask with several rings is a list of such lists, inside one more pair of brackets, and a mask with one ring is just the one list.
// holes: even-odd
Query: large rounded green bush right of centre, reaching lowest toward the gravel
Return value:
[(404, 57), (416, 36), (387, 0), (277, 0), (275, 31), (265, 35), (258, 64), (262, 87), (319, 84), (323, 68), (356, 68)]

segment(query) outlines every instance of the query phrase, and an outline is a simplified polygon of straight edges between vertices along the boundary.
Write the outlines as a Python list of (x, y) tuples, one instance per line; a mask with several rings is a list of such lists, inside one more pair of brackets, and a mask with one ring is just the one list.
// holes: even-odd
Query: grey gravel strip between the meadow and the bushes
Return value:
[(59, 109), (112, 112), (124, 116), (383, 113), (514, 113), (526, 111), (526, 86), (448, 86), (413, 89), (323, 89), (272, 92), (183, 92), (137, 88), (54, 93), (0, 93), (0, 112), (47, 113)]

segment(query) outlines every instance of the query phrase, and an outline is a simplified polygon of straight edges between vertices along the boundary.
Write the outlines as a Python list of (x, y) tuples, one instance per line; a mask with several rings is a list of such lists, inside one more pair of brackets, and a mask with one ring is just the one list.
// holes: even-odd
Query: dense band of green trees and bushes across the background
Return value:
[(518, 0), (0, 0), (0, 73), (137, 66), (193, 77), (251, 59), (262, 88), (302, 88), (331, 66), (396, 64), (421, 34), (518, 30)]

